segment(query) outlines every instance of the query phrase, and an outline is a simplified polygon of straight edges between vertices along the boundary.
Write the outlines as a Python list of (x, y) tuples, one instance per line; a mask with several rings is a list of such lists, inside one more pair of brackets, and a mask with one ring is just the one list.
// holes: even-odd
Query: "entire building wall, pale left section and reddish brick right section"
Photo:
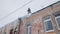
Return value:
[[(13, 34), (14, 32), (16, 32), (16, 34), (60, 34), (55, 19), (55, 15), (58, 13), (60, 14), (60, 1), (35, 13), (30, 13), (25, 17), (21, 17), (20, 22), (13, 21), (12, 23), (7, 24), (0, 29), (0, 34), (3, 34), (4, 32), (10, 34), (10, 30), (12, 29)], [(53, 31), (50, 32), (46, 32), (44, 25), (44, 19), (47, 17), (50, 17), (53, 23)], [(15, 31), (16, 28), (19, 28), (19, 31)]]

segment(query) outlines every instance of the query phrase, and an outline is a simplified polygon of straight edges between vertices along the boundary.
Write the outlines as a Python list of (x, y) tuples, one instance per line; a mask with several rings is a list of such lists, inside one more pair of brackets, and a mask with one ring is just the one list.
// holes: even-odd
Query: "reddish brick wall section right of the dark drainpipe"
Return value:
[[(20, 34), (26, 34), (27, 23), (31, 24), (31, 34), (60, 34), (55, 20), (55, 14), (60, 12), (60, 1), (52, 4), (42, 10), (32, 13), (30, 16), (22, 17), (20, 24)], [(53, 23), (53, 31), (46, 32), (44, 26), (44, 17), (50, 16)]]

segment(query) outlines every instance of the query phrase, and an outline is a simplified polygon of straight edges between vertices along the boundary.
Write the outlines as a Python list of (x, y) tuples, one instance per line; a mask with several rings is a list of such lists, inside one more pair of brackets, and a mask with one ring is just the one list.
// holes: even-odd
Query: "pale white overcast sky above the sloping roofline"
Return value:
[(59, 0), (0, 0), (0, 27), (26, 15), (28, 8), (33, 13), (57, 1)]

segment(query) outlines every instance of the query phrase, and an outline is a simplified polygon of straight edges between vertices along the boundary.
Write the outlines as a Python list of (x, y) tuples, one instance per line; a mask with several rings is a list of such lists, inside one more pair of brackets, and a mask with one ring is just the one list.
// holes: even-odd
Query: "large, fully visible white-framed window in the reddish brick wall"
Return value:
[(46, 32), (53, 31), (53, 24), (52, 24), (52, 21), (51, 21), (50, 17), (45, 18), (44, 25), (45, 25)]

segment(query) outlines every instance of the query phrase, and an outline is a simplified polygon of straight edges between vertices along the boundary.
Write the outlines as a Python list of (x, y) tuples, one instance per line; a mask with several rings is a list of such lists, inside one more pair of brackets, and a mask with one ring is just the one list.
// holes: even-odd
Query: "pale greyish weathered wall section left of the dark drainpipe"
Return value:
[(15, 28), (19, 28), (19, 22), (16, 20), (2, 27), (0, 34), (4, 34), (4, 32), (6, 32), (6, 34), (10, 34), (11, 29), (13, 29), (13, 33), (14, 33)]

